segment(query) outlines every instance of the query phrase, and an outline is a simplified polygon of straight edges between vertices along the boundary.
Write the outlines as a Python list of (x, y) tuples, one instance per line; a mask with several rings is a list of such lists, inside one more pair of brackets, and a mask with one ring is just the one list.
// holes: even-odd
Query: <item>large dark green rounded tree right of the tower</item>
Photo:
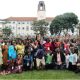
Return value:
[(58, 34), (63, 30), (71, 30), (74, 33), (74, 28), (78, 21), (78, 17), (74, 13), (64, 13), (63, 15), (56, 16), (50, 25), (50, 32), (51, 34)]

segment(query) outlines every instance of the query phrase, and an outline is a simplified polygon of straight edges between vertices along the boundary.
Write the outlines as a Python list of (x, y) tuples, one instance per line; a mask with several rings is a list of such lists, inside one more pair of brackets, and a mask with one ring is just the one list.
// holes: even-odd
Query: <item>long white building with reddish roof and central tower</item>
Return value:
[(44, 1), (39, 1), (37, 17), (9, 17), (4, 19), (4, 23), (2, 28), (10, 27), (12, 29), (13, 35), (34, 35), (34, 31), (32, 30), (32, 23), (35, 20), (46, 19), (49, 23), (53, 20), (52, 17), (46, 17), (46, 9)]

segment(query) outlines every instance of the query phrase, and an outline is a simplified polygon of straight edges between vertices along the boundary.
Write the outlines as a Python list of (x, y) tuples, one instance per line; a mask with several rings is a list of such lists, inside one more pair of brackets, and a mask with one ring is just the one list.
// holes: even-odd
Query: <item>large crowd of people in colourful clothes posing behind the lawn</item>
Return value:
[(0, 43), (0, 74), (21, 73), (33, 69), (79, 71), (77, 39), (27, 38)]

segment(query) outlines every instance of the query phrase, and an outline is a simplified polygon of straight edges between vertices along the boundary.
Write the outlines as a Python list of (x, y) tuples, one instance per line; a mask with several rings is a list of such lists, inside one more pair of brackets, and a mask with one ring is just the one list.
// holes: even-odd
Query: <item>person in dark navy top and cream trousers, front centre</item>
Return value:
[(36, 52), (36, 66), (37, 69), (45, 68), (45, 52), (40, 41), (38, 42), (38, 49)]

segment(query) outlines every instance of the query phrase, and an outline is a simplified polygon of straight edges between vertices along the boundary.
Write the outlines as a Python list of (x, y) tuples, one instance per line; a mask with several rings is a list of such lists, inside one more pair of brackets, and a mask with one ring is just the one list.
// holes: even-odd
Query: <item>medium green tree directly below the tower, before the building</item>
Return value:
[(45, 20), (34, 21), (32, 25), (36, 34), (40, 34), (41, 36), (46, 34), (48, 31), (48, 23)]

